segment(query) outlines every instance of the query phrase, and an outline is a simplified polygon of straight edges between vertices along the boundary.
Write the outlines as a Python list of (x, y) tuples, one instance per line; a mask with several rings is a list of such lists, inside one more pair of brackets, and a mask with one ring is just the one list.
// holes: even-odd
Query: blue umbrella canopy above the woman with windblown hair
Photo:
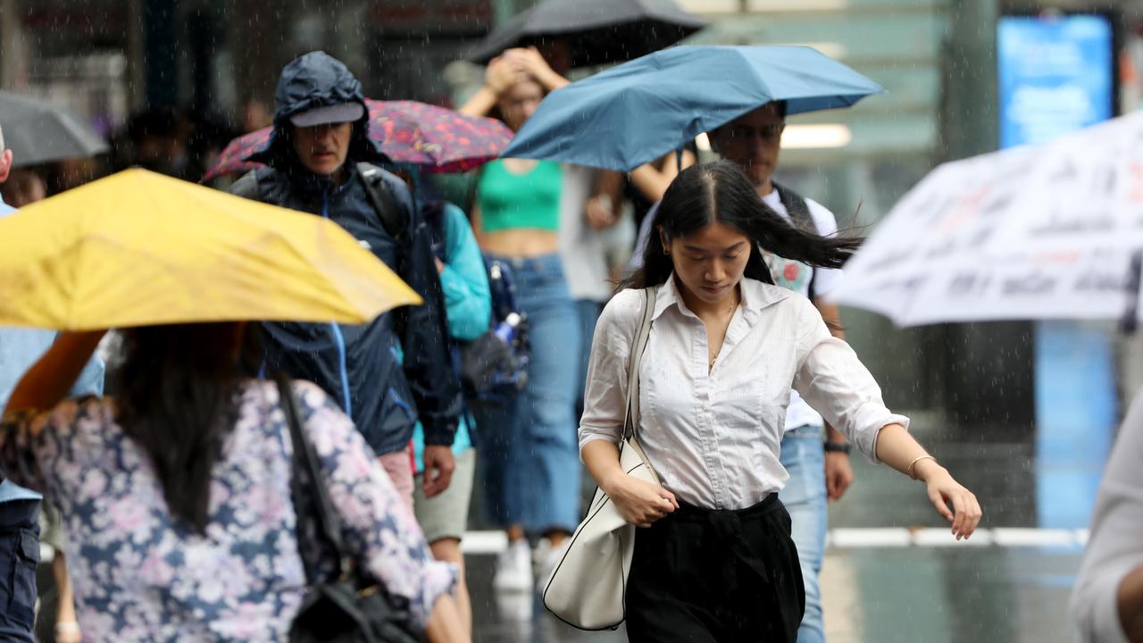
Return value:
[(504, 156), (631, 172), (770, 101), (796, 114), (879, 92), (809, 47), (672, 47), (551, 93)]

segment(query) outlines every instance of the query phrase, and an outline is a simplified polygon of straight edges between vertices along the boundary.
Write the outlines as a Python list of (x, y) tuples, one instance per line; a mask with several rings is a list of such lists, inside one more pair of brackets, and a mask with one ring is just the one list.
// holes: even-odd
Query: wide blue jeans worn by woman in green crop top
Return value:
[(580, 522), (580, 317), (559, 256), (501, 259), (512, 265), (531, 352), (517, 399), (477, 418), (486, 506), (502, 526), (572, 532)]

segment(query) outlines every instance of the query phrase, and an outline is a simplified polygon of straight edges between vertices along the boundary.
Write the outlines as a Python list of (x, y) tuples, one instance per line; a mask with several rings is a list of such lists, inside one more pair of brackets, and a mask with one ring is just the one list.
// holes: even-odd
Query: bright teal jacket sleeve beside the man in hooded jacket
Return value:
[(488, 330), (491, 294), (480, 246), (464, 212), (453, 204), (445, 205), (445, 256), (440, 273), (445, 291), (448, 331), (461, 341), (472, 341)]

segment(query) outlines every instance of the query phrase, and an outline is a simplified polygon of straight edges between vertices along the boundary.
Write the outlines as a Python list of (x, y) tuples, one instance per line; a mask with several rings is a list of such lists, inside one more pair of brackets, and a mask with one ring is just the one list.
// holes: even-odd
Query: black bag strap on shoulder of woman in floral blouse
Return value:
[[(331, 550), (330, 553), (337, 556), (341, 571), (345, 573), (347, 571), (347, 561), (345, 558), (345, 549), (342, 545), (342, 525), (337, 518), (337, 514), (334, 513), (333, 502), (330, 502), (329, 493), (326, 491), (326, 485), (322, 482), (321, 471), (318, 468), (318, 454), (314, 453), (310, 440), (302, 432), (302, 416), (298, 414), (297, 399), (294, 397), (294, 389), (290, 386), (289, 379), (279, 373), (274, 376), (274, 380), (278, 382), (278, 394), (281, 398), (282, 408), (286, 411), (286, 423), (289, 424), (290, 440), (294, 443), (294, 475), (290, 483), (294, 492), (294, 507), (305, 506), (304, 502), (299, 502), (303, 498), (301, 495), (299, 474), (307, 475), (310, 478), (310, 489), (312, 490), (309, 498), (313, 501), (313, 518), (318, 521), (319, 537), (326, 540)], [(301, 515), (297, 517), (297, 522), (298, 539), (301, 540)]]

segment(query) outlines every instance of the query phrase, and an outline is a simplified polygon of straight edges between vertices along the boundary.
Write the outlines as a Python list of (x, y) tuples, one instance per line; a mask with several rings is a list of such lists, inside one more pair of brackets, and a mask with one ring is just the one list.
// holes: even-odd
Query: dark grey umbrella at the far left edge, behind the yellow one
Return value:
[(0, 128), (13, 153), (13, 167), (107, 151), (102, 136), (66, 111), (11, 92), (0, 92)]

